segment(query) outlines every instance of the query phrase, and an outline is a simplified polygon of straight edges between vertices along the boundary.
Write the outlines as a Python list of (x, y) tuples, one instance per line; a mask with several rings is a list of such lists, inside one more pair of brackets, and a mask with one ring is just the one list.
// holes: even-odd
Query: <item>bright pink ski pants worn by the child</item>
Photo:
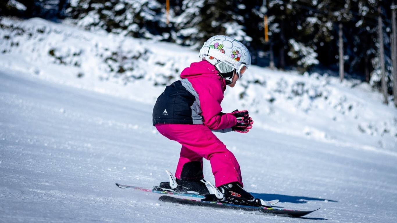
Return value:
[(215, 186), (241, 181), (240, 165), (221, 140), (205, 125), (157, 124), (156, 129), (170, 140), (182, 145), (175, 177), (180, 179), (182, 167), (191, 161), (202, 158), (210, 161)]

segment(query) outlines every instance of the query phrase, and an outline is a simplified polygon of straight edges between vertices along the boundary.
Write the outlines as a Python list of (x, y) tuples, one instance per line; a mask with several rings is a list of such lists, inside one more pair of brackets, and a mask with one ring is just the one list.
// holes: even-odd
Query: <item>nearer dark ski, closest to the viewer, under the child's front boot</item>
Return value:
[(201, 201), (194, 200), (189, 198), (176, 198), (172, 196), (163, 195), (158, 198), (161, 202), (170, 202), (176, 204), (186, 204), (192, 206), (206, 206), (211, 208), (228, 208), (228, 209), (236, 209), (236, 210), (244, 210), (244, 211), (254, 211), (259, 213), (264, 213), (266, 215), (278, 215), (283, 217), (302, 217), (309, 213), (312, 213), (316, 210), (304, 211), (304, 210), (288, 210), (281, 208), (268, 208), (268, 207), (255, 207), (255, 206), (245, 206), (245, 205), (237, 205), (237, 204), (228, 204), (214, 201)]

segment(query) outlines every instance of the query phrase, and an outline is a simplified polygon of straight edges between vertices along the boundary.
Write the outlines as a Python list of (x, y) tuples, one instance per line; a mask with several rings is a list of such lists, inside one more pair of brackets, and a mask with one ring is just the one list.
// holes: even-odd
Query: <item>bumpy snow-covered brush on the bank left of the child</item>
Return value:
[(188, 65), (189, 57), (184, 53), (170, 57), (167, 52), (142, 46), (139, 40), (132, 38), (112, 33), (98, 36), (73, 33), (71, 29), (44, 24), (46, 22), (42, 19), (30, 19), (18, 25), (7, 18), (1, 19), (1, 52), (33, 53), (35, 56), (29, 56), (27, 60), (73, 67), (70, 70), (73, 76), (119, 80), (123, 84), (146, 79), (153, 81), (154, 85), (166, 85), (175, 81)]

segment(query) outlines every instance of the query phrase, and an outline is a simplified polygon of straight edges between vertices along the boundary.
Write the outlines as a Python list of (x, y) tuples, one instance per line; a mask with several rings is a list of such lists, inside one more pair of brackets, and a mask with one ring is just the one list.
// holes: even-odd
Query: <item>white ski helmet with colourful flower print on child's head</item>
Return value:
[(247, 47), (228, 36), (218, 35), (209, 38), (204, 42), (199, 56), (215, 65), (226, 84), (231, 83), (234, 71), (240, 78), (241, 69), (251, 66), (251, 55)]

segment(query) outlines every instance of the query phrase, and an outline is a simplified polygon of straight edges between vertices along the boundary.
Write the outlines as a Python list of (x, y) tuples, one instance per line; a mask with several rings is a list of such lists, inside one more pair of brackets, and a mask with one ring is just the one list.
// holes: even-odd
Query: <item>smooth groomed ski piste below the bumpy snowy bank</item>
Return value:
[[(218, 136), (245, 188), (306, 218), (158, 202), (150, 188), (174, 171), (179, 145), (151, 125), (152, 106), (0, 71), (1, 222), (397, 221), (397, 158), (254, 128)], [(359, 139), (358, 139), (359, 140)], [(208, 161), (206, 179), (213, 181)]]

